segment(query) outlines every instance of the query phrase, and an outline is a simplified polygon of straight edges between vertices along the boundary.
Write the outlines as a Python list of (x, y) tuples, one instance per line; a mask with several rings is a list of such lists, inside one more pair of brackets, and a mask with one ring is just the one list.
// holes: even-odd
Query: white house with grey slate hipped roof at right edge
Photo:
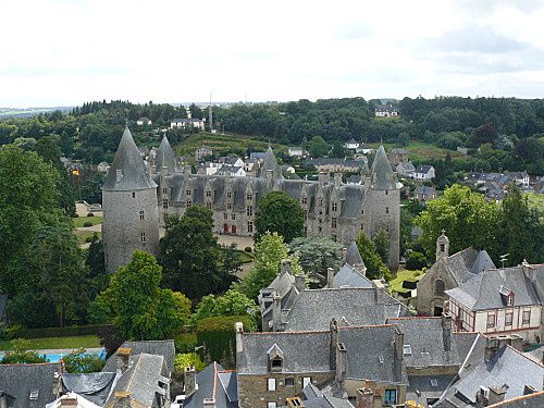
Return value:
[(544, 265), (489, 269), (446, 290), (447, 308), (458, 332), (518, 334), (526, 342), (543, 338)]

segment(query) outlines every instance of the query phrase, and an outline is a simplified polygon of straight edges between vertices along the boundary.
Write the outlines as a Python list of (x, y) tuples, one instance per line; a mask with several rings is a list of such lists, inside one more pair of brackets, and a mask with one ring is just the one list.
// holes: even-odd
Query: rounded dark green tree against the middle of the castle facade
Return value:
[(290, 243), (302, 236), (304, 224), (305, 213), (296, 199), (284, 191), (270, 191), (259, 200), (255, 238), (259, 239), (267, 232), (275, 232)]

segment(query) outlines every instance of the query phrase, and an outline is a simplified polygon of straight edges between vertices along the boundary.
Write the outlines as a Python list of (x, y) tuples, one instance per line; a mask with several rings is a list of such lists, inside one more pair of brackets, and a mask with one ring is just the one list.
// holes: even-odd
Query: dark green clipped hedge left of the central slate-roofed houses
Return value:
[(205, 346), (210, 361), (219, 361), (226, 368), (235, 366), (236, 336), (234, 324), (244, 323), (245, 332), (257, 329), (255, 319), (248, 316), (228, 316), (202, 319), (197, 325), (198, 344)]

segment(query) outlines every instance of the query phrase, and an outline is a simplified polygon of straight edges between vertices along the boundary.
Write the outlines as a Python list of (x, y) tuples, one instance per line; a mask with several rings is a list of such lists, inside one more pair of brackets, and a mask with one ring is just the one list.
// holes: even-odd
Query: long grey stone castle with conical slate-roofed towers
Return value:
[(251, 236), (259, 199), (283, 190), (298, 200), (306, 214), (307, 236), (329, 236), (348, 246), (362, 231), (383, 230), (390, 239), (392, 269), (398, 268), (400, 187), (383, 146), (378, 149), (362, 184), (342, 182), (342, 174), (320, 173), (319, 181), (285, 180), (271, 148), (255, 177), (191, 174), (178, 169), (166, 137), (154, 162), (146, 166), (128, 128), (102, 187), (102, 236), (109, 272), (127, 263), (135, 249), (156, 255), (159, 228), (170, 214), (183, 215), (194, 205), (213, 210), (214, 232)]

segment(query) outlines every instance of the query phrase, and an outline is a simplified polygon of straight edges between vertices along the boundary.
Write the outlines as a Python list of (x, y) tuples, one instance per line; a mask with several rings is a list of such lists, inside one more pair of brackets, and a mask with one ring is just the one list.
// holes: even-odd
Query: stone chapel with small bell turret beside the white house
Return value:
[(467, 282), (485, 269), (495, 269), (485, 250), (466, 248), (449, 255), (449, 239), (444, 232), (436, 239), (436, 262), (418, 282), (418, 313), (442, 316), (446, 290)]

